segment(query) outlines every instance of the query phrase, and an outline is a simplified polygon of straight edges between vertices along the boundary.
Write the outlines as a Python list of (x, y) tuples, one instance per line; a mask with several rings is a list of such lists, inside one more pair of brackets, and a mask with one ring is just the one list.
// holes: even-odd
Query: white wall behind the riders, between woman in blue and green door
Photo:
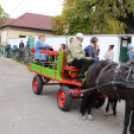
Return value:
[[(75, 36), (70, 36), (75, 38)], [(70, 38), (69, 37), (69, 38)], [(82, 47), (83, 49), (90, 44), (90, 39), (93, 37), (93, 35), (89, 35), (89, 36), (84, 36), (84, 40), (82, 43)], [(120, 37), (119, 36), (99, 36), (99, 35), (95, 35), (95, 37), (97, 37), (99, 39), (98, 45), (100, 45), (100, 55), (99, 58), (102, 60), (104, 59), (103, 56), (106, 53), (106, 51), (108, 50), (108, 46), (114, 44), (114, 61), (115, 62), (119, 62), (119, 55), (120, 55)], [(52, 45), (54, 50), (59, 50), (60, 44), (61, 43), (65, 43), (66, 44), (66, 38), (63, 36), (56, 36), (56, 37), (47, 37), (46, 44), (48, 45)], [(68, 42), (69, 44), (69, 42)]]

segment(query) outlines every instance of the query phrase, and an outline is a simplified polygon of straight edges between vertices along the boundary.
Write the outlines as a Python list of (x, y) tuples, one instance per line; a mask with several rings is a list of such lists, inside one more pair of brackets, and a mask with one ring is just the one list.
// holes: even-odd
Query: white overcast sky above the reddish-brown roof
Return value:
[(11, 18), (18, 18), (26, 12), (55, 16), (62, 13), (63, 1), (64, 0), (0, 0), (0, 5)]

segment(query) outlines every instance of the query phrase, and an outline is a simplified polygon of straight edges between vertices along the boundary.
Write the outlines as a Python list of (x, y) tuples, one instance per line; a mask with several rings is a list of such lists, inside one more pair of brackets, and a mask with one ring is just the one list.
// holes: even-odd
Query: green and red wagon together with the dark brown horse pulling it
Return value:
[[(34, 55), (34, 50), (32, 53)], [(131, 112), (133, 113), (131, 116), (130, 132), (134, 134), (134, 70), (131, 66), (108, 63), (106, 61), (96, 62), (90, 66), (88, 70), (89, 75), (86, 72), (85, 79), (81, 82), (81, 79), (77, 77), (81, 69), (74, 68), (66, 62), (65, 51), (41, 50), (40, 53), (47, 53), (49, 61), (45, 63), (38, 61), (27, 64), (28, 69), (36, 74), (32, 82), (35, 94), (41, 94), (44, 85), (59, 84), (57, 104), (63, 111), (69, 110), (72, 99), (81, 98), (84, 94), (81, 106), (83, 120), (87, 119), (87, 109), (88, 120), (93, 120), (91, 115), (93, 103), (94, 106), (101, 107), (107, 96), (116, 100), (124, 99), (126, 101), (126, 110), (123, 134), (127, 134)], [(57, 62), (52, 61), (52, 56), (57, 56)], [(52, 83), (50, 82), (51, 80), (57, 83)], [(88, 81), (87, 85), (86, 80)], [(97, 85), (94, 84), (96, 80), (99, 81)]]

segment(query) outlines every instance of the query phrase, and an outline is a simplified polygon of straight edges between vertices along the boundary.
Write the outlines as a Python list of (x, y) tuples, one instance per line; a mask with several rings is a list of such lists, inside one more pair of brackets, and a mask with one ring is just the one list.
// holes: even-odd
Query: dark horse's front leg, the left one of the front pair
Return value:
[(129, 120), (130, 120), (130, 115), (131, 115), (132, 107), (133, 107), (132, 101), (126, 101), (125, 121), (124, 121), (123, 134), (127, 134), (127, 127), (128, 127)]

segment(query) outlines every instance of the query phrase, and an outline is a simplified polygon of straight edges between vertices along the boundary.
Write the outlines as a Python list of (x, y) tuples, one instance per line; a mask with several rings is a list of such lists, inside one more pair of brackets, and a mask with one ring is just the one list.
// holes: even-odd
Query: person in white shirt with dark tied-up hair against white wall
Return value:
[(109, 45), (108, 51), (104, 55), (104, 58), (107, 61), (109, 61), (109, 62), (113, 62), (113, 59), (114, 59), (114, 51), (113, 51), (113, 48), (114, 48), (114, 45)]

